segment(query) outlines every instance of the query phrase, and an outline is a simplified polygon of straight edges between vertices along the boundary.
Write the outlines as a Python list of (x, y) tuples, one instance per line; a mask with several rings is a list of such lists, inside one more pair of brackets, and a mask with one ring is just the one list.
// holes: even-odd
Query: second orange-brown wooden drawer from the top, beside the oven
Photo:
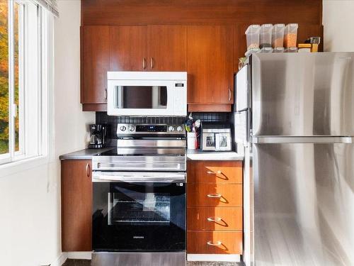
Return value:
[(187, 184), (188, 207), (241, 207), (242, 184)]

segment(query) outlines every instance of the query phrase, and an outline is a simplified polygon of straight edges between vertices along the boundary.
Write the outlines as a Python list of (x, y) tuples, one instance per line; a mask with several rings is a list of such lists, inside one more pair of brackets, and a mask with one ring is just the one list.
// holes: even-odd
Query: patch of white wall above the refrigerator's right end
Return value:
[(324, 51), (354, 51), (354, 0), (324, 0)]

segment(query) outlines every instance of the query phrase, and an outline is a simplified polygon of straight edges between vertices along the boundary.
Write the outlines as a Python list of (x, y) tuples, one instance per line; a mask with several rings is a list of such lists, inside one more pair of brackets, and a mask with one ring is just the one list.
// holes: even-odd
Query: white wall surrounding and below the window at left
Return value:
[[(0, 177), (0, 265), (59, 265), (60, 162), (85, 148), (94, 113), (81, 111), (80, 1), (59, 0), (55, 19), (54, 156), (50, 162)], [(52, 143), (53, 144), (53, 143)], [(54, 149), (54, 150), (53, 150)]]

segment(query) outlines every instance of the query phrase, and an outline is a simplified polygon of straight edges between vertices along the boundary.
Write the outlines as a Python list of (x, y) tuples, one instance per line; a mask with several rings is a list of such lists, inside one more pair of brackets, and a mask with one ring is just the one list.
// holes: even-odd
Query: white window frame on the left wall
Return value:
[[(19, 151), (15, 152), (14, 104), (14, 5), (20, 4), (18, 25), (18, 95)], [(34, 17), (36, 16), (36, 18)], [(34, 25), (35, 24), (35, 25)], [(48, 159), (49, 102), (52, 88), (53, 18), (49, 12), (30, 0), (8, 0), (8, 87), (9, 87), (9, 153), (0, 155), (0, 170), (35, 159)], [(20, 34), (23, 33), (23, 34)], [(33, 38), (35, 36), (35, 38)], [(22, 45), (21, 45), (22, 44)], [(24, 56), (21, 56), (24, 55)], [(23, 89), (24, 88), (24, 89)], [(0, 176), (2, 175), (2, 172)]]

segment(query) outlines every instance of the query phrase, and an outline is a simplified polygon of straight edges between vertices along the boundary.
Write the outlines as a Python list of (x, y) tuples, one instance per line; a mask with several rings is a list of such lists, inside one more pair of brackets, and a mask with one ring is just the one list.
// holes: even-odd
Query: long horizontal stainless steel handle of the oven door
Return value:
[(124, 175), (124, 174), (103, 174), (93, 172), (92, 182), (185, 182), (185, 174), (164, 174), (161, 176), (154, 175)]

